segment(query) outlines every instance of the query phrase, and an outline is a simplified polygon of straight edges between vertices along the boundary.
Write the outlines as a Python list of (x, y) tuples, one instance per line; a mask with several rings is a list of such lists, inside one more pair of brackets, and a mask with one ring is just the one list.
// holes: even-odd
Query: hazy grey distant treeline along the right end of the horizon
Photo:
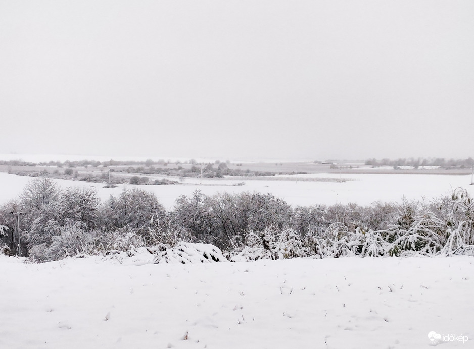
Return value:
[(471, 157), (459, 160), (459, 159), (444, 159), (444, 158), (409, 158), (409, 159), (398, 159), (398, 160), (390, 160), (390, 159), (369, 159), (365, 161), (366, 165), (369, 166), (412, 166), (414, 168), (418, 168), (420, 166), (436, 166), (442, 168), (469, 168), (474, 166), (474, 159)]

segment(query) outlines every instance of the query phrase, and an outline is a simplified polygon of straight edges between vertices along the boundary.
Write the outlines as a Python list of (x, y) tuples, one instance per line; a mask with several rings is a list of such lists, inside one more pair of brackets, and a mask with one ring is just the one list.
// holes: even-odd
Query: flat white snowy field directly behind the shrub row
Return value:
[[(288, 176), (286, 176), (288, 178)], [(304, 178), (346, 178), (350, 181), (338, 182), (312, 182), (303, 181)], [(199, 189), (207, 195), (218, 192), (239, 193), (243, 191), (272, 193), (284, 199), (289, 204), (313, 205), (356, 202), (360, 205), (369, 205), (375, 201), (397, 201), (402, 197), (407, 199), (431, 200), (441, 195), (451, 193), (457, 187), (463, 187), (474, 195), (474, 186), (469, 185), (471, 176), (437, 176), (424, 174), (311, 174), (299, 176), (299, 181), (285, 181), (268, 178), (268, 180), (244, 180), (243, 186), (232, 186), (241, 179), (212, 180), (199, 178), (184, 178), (184, 185), (151, 186), (151, 185), (120, 185), (117, 188), (104, 188), (104, 184), (91, 184), (78, 181), (54, 180), (61, 187), (93, 186), (97, 188), (98, 195), (105, 200), (109, 196), (118, 196), (124, 187), (143, 188), (154, 192), (160, 202), (169, 209), (180, 195), (192, 195)], [(32, 180), (31, 177), (13, 176), (0, 173), (0, 203), (5, 203), (20, 194), (24, 186)], [(176, 178), (174, 180), (177, 180)]]

